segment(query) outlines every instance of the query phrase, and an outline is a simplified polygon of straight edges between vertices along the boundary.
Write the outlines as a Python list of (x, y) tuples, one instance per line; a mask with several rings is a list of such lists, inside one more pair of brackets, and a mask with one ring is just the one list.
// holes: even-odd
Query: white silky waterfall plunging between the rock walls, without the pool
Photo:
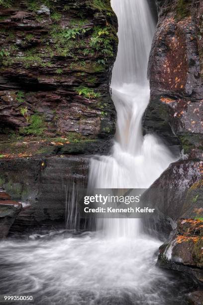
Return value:
[[(112, 154), (91, 160), (91, 188), (148, 188), (175, 161), (155, 135), (142, 135), (142, 116), (149, 102), (147, 63), (155, 24), (147, 0), (111, 0), (118, 17), (118, 53), (112, 71), (112, 100), (117, 128)], [(134, 238), (138, 219), (98, 220), (111, 237)]]

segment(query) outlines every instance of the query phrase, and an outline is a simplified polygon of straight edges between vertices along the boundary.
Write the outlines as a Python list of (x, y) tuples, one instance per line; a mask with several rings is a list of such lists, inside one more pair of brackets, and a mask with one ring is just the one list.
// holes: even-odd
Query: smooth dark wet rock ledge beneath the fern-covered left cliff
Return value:
[[(4, 159), (0, 181), (13, 199), (23, 203), (10, 232), (62, 225), (72, 191), (87, 188), (89, 157), (53, 156)], [(74, 193), (75, 194), (75, 193)], [(73, 215), (74, 217), (74, 215)]]

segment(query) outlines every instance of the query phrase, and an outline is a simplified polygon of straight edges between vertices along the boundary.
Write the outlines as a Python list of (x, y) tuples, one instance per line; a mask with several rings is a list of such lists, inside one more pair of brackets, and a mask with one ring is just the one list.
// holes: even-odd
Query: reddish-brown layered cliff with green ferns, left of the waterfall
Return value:
[(0, 154), (55, 154), (69, 144), (67, 153), (81, 153), (94, 141), (97, 151), (115, 130), (110, 0), (1, 4)]

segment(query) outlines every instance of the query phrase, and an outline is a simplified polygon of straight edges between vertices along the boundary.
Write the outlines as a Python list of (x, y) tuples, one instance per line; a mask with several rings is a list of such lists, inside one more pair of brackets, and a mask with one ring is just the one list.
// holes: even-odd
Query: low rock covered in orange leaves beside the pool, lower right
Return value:
[(203, 283), (203, 221), (182, 219), (169, 241), (159, 249), (158, 264), (189, 273)]

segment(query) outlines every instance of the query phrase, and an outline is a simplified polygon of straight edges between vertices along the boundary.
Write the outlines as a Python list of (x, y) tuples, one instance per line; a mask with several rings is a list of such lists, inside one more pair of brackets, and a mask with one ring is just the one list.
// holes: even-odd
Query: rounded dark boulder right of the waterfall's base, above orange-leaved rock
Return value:
[(147, 230), (168, 238), (178, 218), (202, 217), (198, 214), (203, 208), (202, 181), (202, 161), (185, 159), (172, 163), (144, 194), (144, 202), (157, 212), (145, 221)]

